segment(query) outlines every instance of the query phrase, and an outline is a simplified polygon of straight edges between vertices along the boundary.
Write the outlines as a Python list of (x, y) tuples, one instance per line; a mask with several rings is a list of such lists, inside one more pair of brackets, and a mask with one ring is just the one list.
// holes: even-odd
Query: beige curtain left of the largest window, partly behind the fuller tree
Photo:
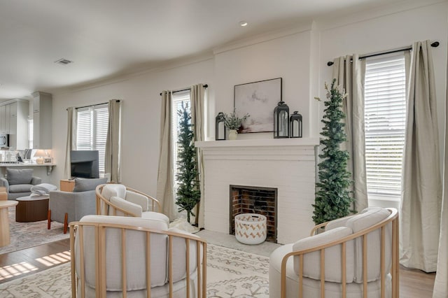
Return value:
[(353, 180), (353, 208), (361, 211), (368, 206), (364, 134), (365, 59), (359, 59), (359, 55), (355, 54), (336, 58), (333, 63), (332, 78), (347, 94), (342, 106), (346, 115), (347, 141), (342, 149), (346, 149), (350, 156), (347, 169)]

